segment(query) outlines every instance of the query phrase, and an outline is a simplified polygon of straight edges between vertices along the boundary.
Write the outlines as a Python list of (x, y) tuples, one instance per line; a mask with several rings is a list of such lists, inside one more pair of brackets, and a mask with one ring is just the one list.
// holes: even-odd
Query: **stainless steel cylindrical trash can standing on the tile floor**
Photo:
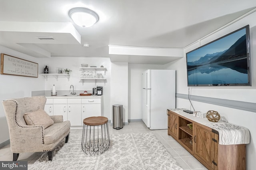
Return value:
[(123, 105), (113, 105), (113, 128), (123, 128)]

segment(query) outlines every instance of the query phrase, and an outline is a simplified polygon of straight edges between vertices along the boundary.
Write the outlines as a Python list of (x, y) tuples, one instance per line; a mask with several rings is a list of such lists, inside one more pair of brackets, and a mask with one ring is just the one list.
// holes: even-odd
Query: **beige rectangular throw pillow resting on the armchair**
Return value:
[(24, 119), (27, 125), (42, 125), (44, 129), (54, 124), (54, 121), (43, 109), (24, 113)]

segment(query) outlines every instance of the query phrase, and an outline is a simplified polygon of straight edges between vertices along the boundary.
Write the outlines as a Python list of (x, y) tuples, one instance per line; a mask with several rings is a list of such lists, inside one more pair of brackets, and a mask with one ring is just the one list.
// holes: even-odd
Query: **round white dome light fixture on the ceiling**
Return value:
[(76, 25), (82, 28), (91, 27), (99, 20), (98, 14), (88, 8), (72, 8), (69, 16)]

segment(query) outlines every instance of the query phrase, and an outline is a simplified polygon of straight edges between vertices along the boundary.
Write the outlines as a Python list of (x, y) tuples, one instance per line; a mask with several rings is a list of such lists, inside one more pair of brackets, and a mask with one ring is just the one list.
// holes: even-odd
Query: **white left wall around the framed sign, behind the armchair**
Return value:
[[(5, 53), (7, 55), (38, 63), (38, 69), (41, 69), (43, 67), (38, 62), (38, 58), (19, 53), (3, 46), (0, 46), (0, 53)], [(44, 78), (40, 75), (38, 76), (38, 78), (35, 78), (1, 74), (0, 82), (0, 101), (20, 97), (30, 97), (31, 91), (38, 91), (44, 89)], [(2, 143), (9, 139), (9, 130), (2, 104), (0, 104), (0, 129), (0, 143)]]

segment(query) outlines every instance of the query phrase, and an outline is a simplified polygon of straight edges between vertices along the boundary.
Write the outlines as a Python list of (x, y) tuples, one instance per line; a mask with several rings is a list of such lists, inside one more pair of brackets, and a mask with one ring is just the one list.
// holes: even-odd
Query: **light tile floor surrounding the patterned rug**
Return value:
[[(184, 149), (174, 138), (167, 134), (166, 130), (150, 130), (142, 121), (130, 122), (129, 125), (124, 125), (122, 129), (114, 129), (109, 124), (110, 134), (124, 134), (124, 133), (144, 133), (152, 132), (162, 142), (166, 149), (177, 160), (184, 170), (207, 170), (194, 156), (192, 156), (186, 149)], [(82, 129), (71, 129), (70, 134), (82, 134)], [(18, 160), (28, 161), (33, 164), (44, 152), (23, 153), (20, 154)], [(12, 152), (10, 144), (0, 148), (0, 160), (12, 161)]]

